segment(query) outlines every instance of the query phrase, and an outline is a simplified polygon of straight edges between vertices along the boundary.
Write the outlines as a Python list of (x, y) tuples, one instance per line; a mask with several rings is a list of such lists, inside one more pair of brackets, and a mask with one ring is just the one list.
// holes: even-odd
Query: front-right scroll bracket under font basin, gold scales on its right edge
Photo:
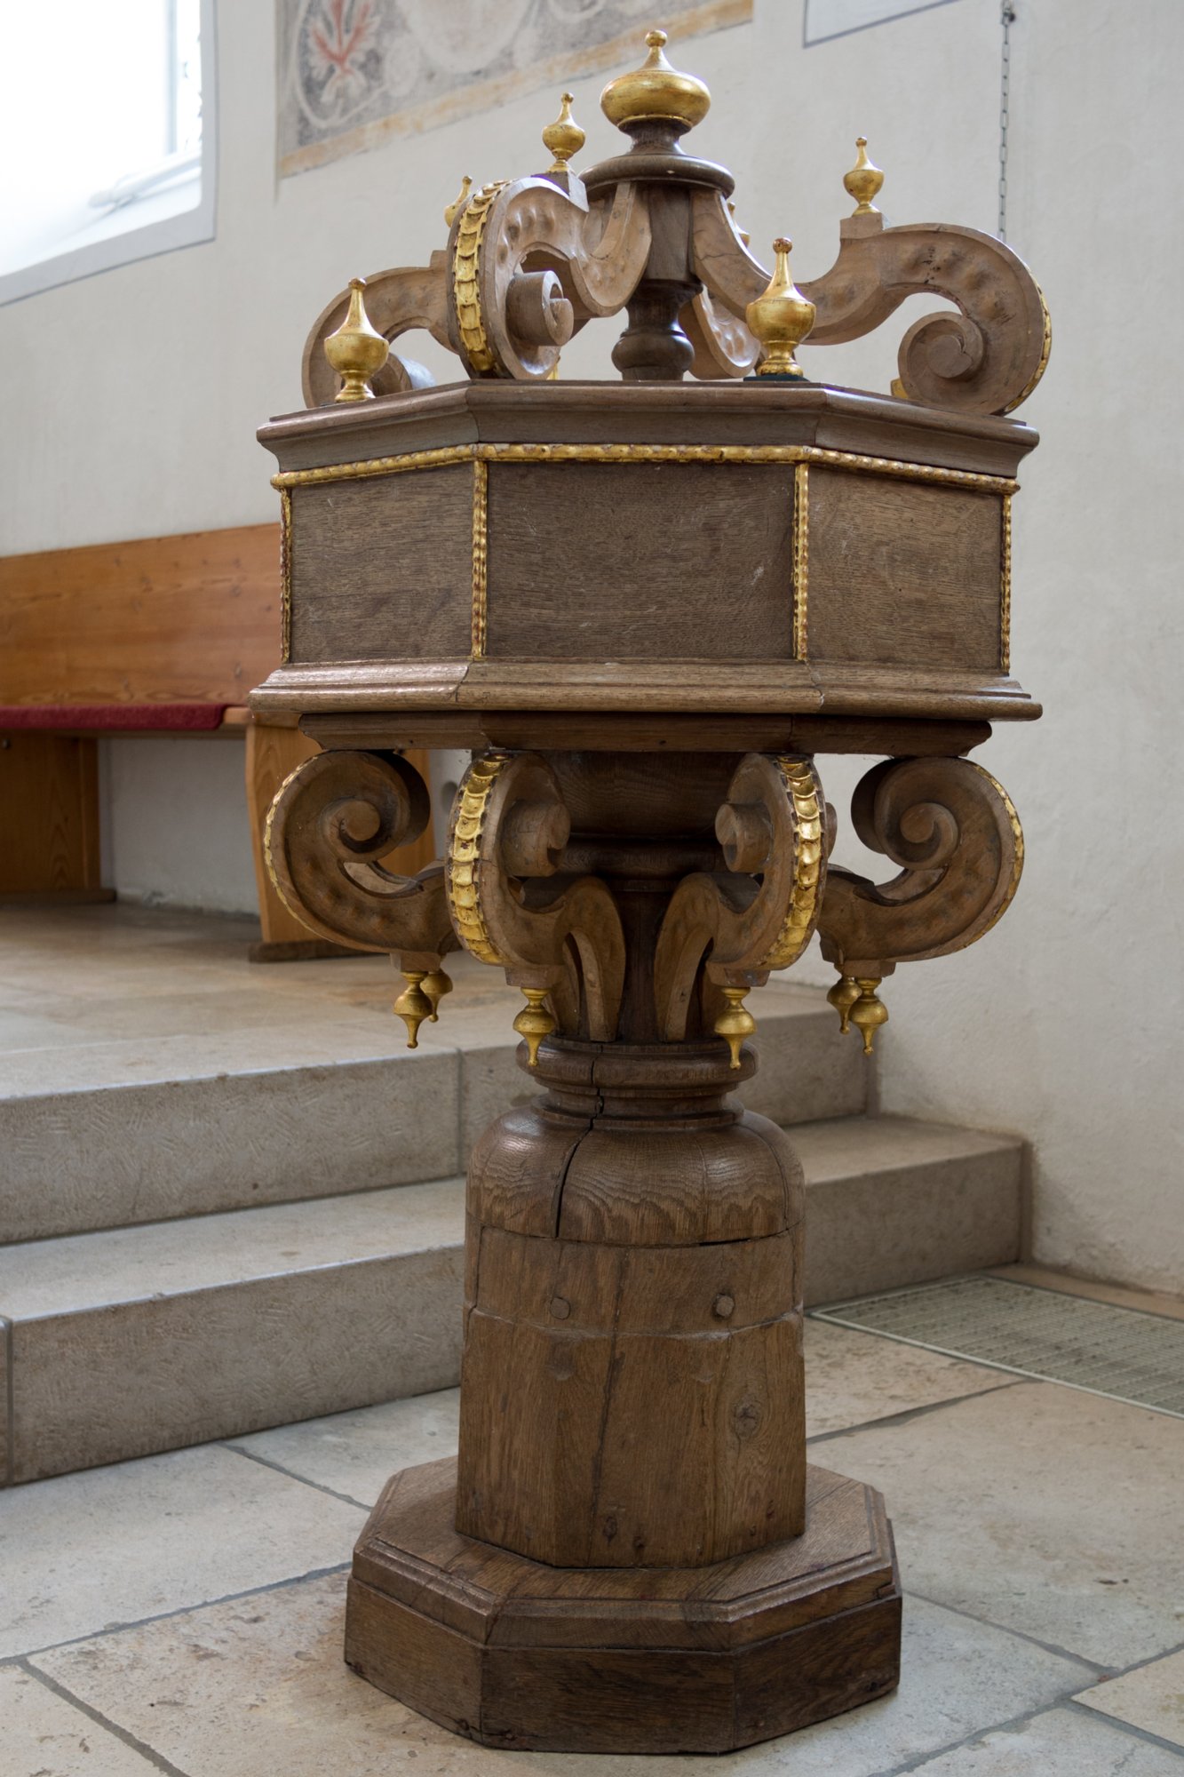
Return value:
[(686, 1036), (692, 997), (706, 984), (725, 1002), (715, 1031), (740, 1066), (740, 1043), (756, 1029), (741, 1009), (745, 993), (795, 963), (814, 931), (827, 880), (823, 828), (809, 759), (747, 753), (715, 823), (727, 873), (683, 878), (661, 922), (654, 997), (667, 1041)]

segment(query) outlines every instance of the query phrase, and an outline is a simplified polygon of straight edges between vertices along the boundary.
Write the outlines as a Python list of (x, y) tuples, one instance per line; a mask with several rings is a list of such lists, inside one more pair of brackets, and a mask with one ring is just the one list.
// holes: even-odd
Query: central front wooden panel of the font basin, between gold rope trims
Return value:
[(793, 467), (489, 464), (489, 659), (791, 659)]

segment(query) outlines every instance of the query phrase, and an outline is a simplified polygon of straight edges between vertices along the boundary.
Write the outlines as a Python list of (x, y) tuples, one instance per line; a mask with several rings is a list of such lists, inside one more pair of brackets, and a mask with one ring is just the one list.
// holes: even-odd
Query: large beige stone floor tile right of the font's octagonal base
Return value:
[(1184, 1420), (1015, 1383), (821, 1448), (884, 1493), (907, 1590), (1109, 1669), (1184, 1635)]

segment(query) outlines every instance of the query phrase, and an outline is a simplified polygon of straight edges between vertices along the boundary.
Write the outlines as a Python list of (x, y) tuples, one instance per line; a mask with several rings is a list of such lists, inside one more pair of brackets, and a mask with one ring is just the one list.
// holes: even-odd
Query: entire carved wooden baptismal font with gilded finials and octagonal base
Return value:
[[(322, 752), (268, 819), (279, 892), (388, 951), (414, 1047), (468, 949), (521, 988), (539, 1086), (468, 1178), (459, 1461), (404, 1470), (354, 1557), (347, 1660), (489, 1747), (709, 1752), (896, 1685), (878, 1493), (805, 1461), (802, 1167), (732, 1089), (748, 995), (818, 931), (869, 1048), (880, 983), (983, 936), (1022, 867), (967, 753), (1038, 707), (1010, 677), (1003, 418), (1047, 361), (1028, 270), (972, 229), (887, 227), (860, 142), (836, 265), (770, 277), (731, 176), (681, 139), (700, 82), (613, 80), (631, 144), (583, 176), (464, 181), (448, 245), (325, 309), (279, 460), (284, 661), (254, 693)], [(916, 293), (891, 396), (795, 347)], [(626, 311), (620, 382), (558, 380)], [(389, 345), (460, 361), (434, 387)], [(684, 380), (686, 377), (693, 380)], [(473, 762), (441, 862), (409, 748)], [(823, 753), (880, 764), (830, 862)], [(443, 1008), (450, 1016), (453, 1002)], [(425, 1105), (425, 1116), (430, 1105)]]

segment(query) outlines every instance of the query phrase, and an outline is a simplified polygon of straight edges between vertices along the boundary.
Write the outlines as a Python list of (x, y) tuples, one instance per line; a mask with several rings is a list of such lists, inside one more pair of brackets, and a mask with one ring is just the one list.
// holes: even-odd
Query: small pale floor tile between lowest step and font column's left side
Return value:
[(331, 1413), (302, 1425), (277, 1425), (270, 1432), (235, 1438), (231, 1448), (373, 1505), (396, 1470), (452, 1455), (459, 1420), (460, 1390), (444, 1388), (356, 1413)]

